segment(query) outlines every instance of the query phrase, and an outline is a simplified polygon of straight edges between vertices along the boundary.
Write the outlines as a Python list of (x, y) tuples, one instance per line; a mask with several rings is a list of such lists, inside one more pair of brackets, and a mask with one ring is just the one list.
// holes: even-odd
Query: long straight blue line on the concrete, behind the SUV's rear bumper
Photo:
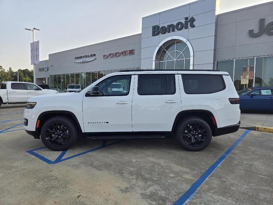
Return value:
[(236, 142), (231, 145), (231, 147), (225, 151), (225, 153), (216, 161), (213, 165), (210, 166), (210, 168), (205, 171), (204, 174), (201, 175), (201, 177), (196, 180), (193, 185), (176, 201), (174, 202), (174, 205), (178, 204), (186, 204), (193, 196), (196, 190), (207, 180), (207, 178), (214, 172), (214, 170), (225, 160), (225, 158), (228, 156), (228, 154), (231, 153), (231, 151), (239, 144), (239, 142), (244, 139), (244, 137), (250, 132), (251, 130), (246, 130), (239, 139), (236, 140)]

